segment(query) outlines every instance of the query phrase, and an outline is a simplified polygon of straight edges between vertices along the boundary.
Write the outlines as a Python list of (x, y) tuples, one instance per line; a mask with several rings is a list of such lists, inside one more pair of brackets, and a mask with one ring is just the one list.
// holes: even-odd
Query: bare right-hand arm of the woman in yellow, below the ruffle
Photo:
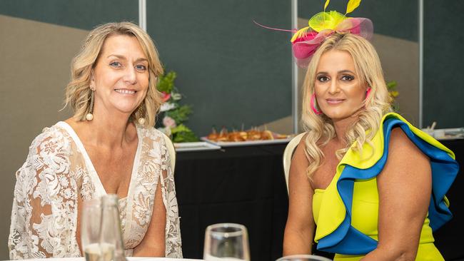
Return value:
[(430, 203), (432, 174), (428, 157), (400, 128), (391, 133), (388, 160), (377, 186), (378, 246), (363, 260), (415, 260)]

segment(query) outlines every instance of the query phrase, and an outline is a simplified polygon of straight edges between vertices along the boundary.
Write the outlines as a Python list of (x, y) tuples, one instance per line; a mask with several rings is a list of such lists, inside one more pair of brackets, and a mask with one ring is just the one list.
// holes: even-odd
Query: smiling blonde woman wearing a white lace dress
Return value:
[(82, 203), (106, 193), (120, 198), (126, 256), (182, 257), (171, 159), (153, 128), (162, 73), (135, 24), (90, 32), (66, 87), (74, 116), (45, 128), (16, 172), (11, 259), (81, 256)]

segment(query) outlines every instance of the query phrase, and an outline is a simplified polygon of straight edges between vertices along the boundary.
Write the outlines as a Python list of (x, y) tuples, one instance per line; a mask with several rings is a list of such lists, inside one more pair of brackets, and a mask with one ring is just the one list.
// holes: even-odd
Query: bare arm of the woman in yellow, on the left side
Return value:
[(283, 255), (311, 254), (313, 245), (313, 189), (306, 176), (306, 136), (296, 148), (288, 176), (288, 218), (283, 236)]

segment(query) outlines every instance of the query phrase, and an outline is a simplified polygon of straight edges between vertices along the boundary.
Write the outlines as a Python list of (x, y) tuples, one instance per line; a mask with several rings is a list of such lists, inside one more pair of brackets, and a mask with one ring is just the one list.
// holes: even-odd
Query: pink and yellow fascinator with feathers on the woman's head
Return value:
[(358, 8), (360, 0), (348, 1), (344, 15), (337, 11), (326, 11), (329, 2), (330, 0), (326, 0), (324, 11), (309, 19), (307, 27), (299, 29), (293, 34), (291, 39), (292, 51), (298, 66), (308, 66), (311, 56), (317, 48), (333, 33), (356, 34), (367, 40), (372, 38), (374, 26), (370, 19), (346, 17), (347, 14)]

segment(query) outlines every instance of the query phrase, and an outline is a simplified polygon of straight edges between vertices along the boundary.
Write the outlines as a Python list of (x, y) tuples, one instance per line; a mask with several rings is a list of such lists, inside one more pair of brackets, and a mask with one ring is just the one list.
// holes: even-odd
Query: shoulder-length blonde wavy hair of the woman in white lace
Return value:
[[(156, 83), (158, 76), (163, 74), (163, 67), (150, 36), (131, 22), (102, 24), (87, 35), (81, 51), (73, 58), (71, 63), (71, 81), (66, 86), (65, 107), (70, 104), (74, 111), (74, 118), (85, 121), (86, 114), (89, 113), (91, 106), (90, 83), (92, 69), (96, 66), (105, 40), (116, 35), (135, 37), (148, 59), (148, 91), (141, 106), (144, 112), (143, 118), (146, 119), (145, 126), (154, 126), (156, 113), (161, 107), (161, 93), (156, 89)], [(138, 120), (137, 111), (135, 110), (132, 113), (129, 121), (135, 122)]]

